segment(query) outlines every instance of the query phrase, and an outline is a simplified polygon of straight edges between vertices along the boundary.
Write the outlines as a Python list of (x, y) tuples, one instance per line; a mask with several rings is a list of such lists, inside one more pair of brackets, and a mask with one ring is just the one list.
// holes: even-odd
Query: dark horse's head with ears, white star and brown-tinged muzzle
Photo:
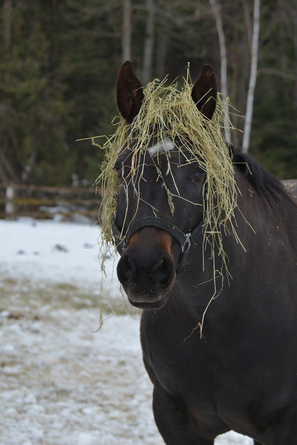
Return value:
[[(205, 65), (191, 91), (205, 125), (216, 108), (216, 95), (216, 77)], [(117, 78), (117, 103), (127, 124), (138, 119), (143, 98), (130, 62), (124, 63)], [(168, 122), (165, 126), (170, 130)], [(196, 227), (202, 231), (206, 173), (191, 151), (189, 138), (185, 143), (178, 134), (160, 134), (153, 122), (145, 135), (133, 125), (129, 128), (130, 142), (114, 164), (119, 183), (114, 235), (118, 243), (124, 237), (119, 245), (118, 279), (132, 305), (156, 309), (166, 303), (183, 250), (189, 248), (185, 235)], [(146, 138), (145, 149), (139, 138)], [(134, 150), (137, 144), (139, 149)]]

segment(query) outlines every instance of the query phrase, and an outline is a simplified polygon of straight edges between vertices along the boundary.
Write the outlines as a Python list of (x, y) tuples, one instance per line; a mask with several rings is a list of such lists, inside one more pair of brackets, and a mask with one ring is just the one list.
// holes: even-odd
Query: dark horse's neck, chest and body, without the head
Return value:
[(248, 254), (232, 237), (225, 240), (233, 279), (206, 312), (206, 341), (196, 330), (183, 342), (212, 291), (209, 282), (196, 287), (212, 269), (210, 261), (198, 275), (202, 251), (195, 252), (166, 305), (142, 314), (154, 412), (170, 445), (212, 444), (229, 429), (265, 445), (297, 441), (296, 259), (289, 236), (296, 239), (297, 213), (293, 205), (291, 214), (282, 215), (277, 206), (273, 211), (240, 173), (236, 181), (256, 235), (240, 234)]

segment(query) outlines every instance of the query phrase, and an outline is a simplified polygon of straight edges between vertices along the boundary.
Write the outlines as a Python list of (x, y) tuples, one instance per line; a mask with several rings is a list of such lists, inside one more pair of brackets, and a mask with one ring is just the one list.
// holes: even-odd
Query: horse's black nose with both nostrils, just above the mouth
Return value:
[(169, 286), (175, 274), (175, 264), (170, 255), (163, 252), (158, 258), (150, 258), (150, 255), (142, 253), (134, 249), (123, 253), (117, 267), (119, 281), (123, 285), (134, 283), (143, 288), (156, 284)]

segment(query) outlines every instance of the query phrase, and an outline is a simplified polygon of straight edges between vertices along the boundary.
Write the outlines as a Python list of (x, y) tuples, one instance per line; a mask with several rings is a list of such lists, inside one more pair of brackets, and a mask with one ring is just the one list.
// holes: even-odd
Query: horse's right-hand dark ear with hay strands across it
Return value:
[(216, 108), (216, 76), (210, 65), (204, 65), (202, 73), (192, 89), (192, 99), (207, 119), (211, 119)]

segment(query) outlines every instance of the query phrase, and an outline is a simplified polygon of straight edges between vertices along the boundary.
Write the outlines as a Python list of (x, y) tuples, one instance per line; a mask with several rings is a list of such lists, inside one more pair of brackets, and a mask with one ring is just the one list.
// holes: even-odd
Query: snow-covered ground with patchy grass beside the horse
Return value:
[[(103, 284), (98, 226), (0, 221), (0, 444), (162, 445), (139, 317)], [(107, 271), (111, 274), (113, 260)], [(116, 315), (112, 315), (110, 304)], [(229, 432), (216, 445), (251, 445)]]

